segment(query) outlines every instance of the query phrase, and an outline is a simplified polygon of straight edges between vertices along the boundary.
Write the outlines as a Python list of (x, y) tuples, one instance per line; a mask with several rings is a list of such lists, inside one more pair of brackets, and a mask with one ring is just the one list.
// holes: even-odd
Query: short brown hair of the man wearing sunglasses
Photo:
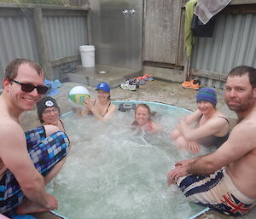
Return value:
[(28, 64), (31, 66), (36, 70), (36, 72), (38, 72), (38, 75), (44, 75), (43, 68), (39, 66), (37, 62), (27, 59), (15, 59), (6, 66), (4, 78), (7, 78), (9, 82), (15, 79), (17, 77), (18, 68), (22, 64)]

